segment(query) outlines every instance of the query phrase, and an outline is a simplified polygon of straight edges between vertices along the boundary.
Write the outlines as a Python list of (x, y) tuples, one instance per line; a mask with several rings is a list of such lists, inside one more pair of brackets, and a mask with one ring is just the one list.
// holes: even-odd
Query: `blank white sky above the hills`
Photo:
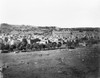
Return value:
[(99, 27), (100, 0), (0, 0), (0, 23)]

